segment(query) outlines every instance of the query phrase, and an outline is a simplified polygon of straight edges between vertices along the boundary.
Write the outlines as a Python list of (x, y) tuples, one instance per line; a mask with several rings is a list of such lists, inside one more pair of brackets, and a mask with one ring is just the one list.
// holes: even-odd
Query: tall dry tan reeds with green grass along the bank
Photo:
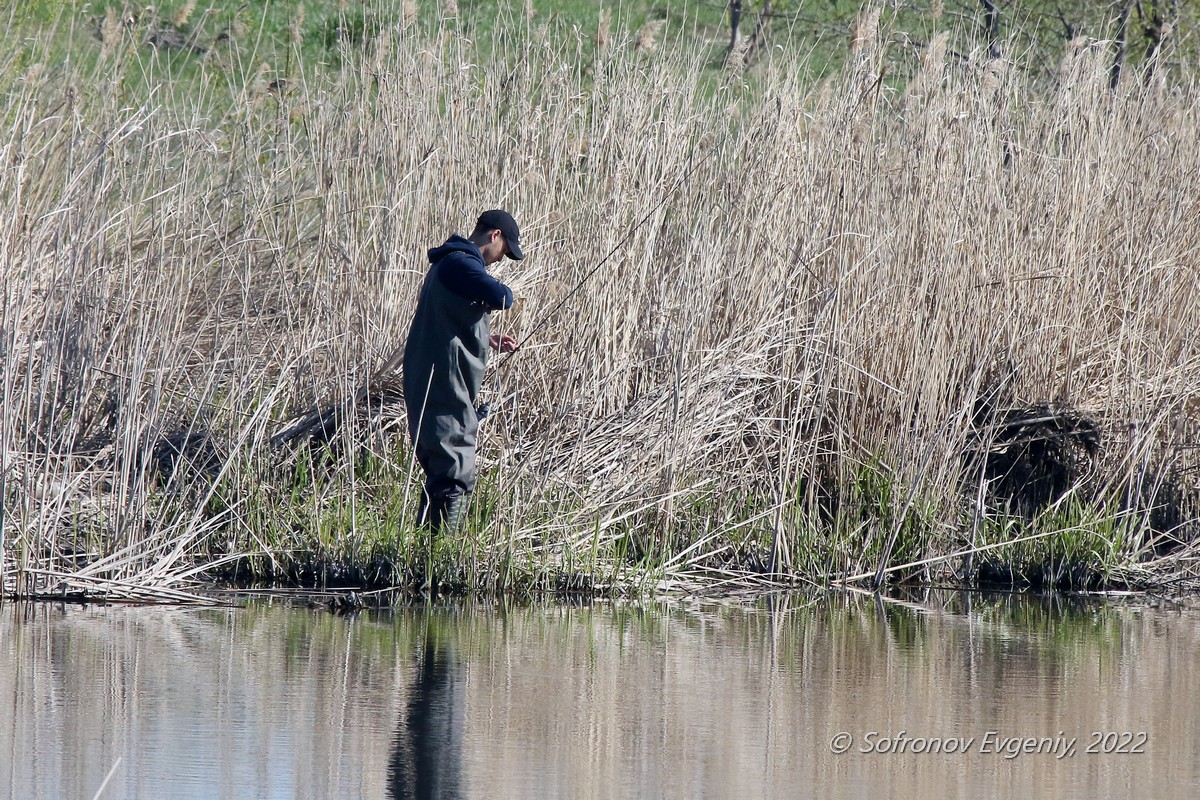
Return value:
[[(1080, 42), (1048, 86), (854, 30), (817, 84), (536, 24), (286, 76), (10, 49), (4, 591), (1194, 587), (1190, 72), (1111, 89)], [(497, 330), (538, 333), (430, 546), (394, 375), (329, 444), (270, 438), (368, 383), (425, 248), (496, 205), (529, 242)]]

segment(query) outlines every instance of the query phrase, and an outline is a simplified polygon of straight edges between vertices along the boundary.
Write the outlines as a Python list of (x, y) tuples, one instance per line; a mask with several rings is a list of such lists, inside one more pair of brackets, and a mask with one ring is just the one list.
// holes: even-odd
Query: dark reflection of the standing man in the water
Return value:
[(463, 686), (454, 656), (426, 628), (413, 697), (396, 729), (388, 770), (392, 800), (458, 800)]

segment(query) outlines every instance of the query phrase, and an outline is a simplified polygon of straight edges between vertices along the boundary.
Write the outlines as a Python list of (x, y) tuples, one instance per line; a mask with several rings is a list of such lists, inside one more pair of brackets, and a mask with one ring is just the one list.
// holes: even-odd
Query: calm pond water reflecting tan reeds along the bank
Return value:
[(8, 604), (0, 798), (1190, 799), (1198, 697), (1145, 604)]

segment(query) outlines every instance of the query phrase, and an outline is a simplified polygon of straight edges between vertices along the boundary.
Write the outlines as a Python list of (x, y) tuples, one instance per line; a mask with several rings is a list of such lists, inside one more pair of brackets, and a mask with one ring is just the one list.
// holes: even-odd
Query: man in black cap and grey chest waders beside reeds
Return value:
[(425, 470), (419, 521), (454, 530), (475, 488), (475, 398), (487, 348), (511, 353), (510, 336), (493, 336), (490, 315), (512, 306), (512, 291), (487, 273), (505, 255), (521, 260), (521, 231), (508, 211), (485, 211), (468, 239), (454, 235), (430, 251), (413, 325), (404, 345), (404, 404), (416, 461)]

